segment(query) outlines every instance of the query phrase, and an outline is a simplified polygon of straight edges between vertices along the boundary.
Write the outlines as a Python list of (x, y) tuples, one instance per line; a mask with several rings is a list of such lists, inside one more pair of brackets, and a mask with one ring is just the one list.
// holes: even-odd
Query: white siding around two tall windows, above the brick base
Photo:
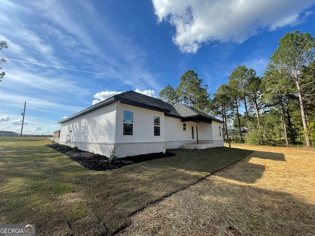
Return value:
[[(124, 135), (124, 111), (133, 112), (133, 134)], [(154, 136), (154, 117), (160, 117), (160, 136)], [(115, 143), (164, 142), (164, 113), (117, 103)]]

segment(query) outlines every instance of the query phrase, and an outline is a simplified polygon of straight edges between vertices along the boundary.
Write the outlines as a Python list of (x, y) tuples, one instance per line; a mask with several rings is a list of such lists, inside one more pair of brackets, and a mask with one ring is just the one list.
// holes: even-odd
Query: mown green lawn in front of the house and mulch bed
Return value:
[(36, 224), (36, 235), (109, 235), (149, 204), (243, 159), (236, 148), (169, 150), (177, 155), (90, 171), (42, 138), (0, 138), (0, 224)]

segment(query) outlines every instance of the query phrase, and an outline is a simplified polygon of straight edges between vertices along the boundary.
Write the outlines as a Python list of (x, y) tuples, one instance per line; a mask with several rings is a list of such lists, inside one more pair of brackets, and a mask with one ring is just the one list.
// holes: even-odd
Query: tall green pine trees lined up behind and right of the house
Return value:
[[(159, 97), (220, 117), (226, 141), (256, 145), (315, 145), (315, 41), (310, 33), (286, 33), (262, 77), (240, 65), (214, 94), (193, 70)], [(244, 135), (242, 128), (248, 133)], [(235, 128), (237, 131), (231, 132)], [(236, 133), (236, 135), (235, 135)]]

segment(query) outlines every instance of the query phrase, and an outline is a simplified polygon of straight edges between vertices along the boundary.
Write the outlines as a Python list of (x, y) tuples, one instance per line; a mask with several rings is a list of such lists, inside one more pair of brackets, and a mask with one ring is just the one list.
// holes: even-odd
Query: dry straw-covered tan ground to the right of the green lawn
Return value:
[(151, 205), (120, 236), (314, 236), (315, 149), (255, 147), (245, 159)]

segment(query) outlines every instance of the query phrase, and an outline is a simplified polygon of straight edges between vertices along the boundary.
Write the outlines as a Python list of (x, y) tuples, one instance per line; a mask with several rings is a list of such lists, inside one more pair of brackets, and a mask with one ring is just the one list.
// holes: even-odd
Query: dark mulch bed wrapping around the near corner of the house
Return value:
[(105, 171), (105, 170), (112, 170), (121, 168), (127, 165), (132, 165), (134, 163), (139, 163), (143, 161), (149, 161), (157, 158), (169, 157), (174, 156), (176, 154), (171, 152), (159, 152), (159, 153), (151, 153), (145, 155), (137, 155), (137, 156), (127, 156), (124, 158), (117, 158), (113, 162), (108, 160), (108, 157), (102, 156), (99, 154), (95, 154), (88, 151), (82, 151), (80, 149), (74, 149), (65, 145), (61, 144), (52, 144), (46, 145), (47, 147), (53, 148), (56, 151), (67, 155), (72, 160), (78, 162), (85, 168), (94, 171)]

